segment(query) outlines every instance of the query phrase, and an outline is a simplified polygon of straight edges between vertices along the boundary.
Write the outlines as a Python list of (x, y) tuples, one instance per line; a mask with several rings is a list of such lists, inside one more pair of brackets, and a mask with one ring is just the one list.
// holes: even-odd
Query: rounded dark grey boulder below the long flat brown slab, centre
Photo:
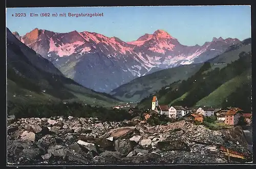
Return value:
[(116, 140), (115, 141), (115, 150), (121, 154), (127, 155), (129, 152), (133, 151), (134, 144), (129, 139)]

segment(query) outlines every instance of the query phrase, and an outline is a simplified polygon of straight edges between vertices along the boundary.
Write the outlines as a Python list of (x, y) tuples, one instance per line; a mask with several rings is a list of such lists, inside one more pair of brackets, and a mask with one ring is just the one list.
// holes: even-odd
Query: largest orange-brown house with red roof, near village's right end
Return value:
[(242, 116), (243, 110), (238, 107), (229, 107), (225, 115), (225, 124), (236, 125), (238, 124), (239, 118)]

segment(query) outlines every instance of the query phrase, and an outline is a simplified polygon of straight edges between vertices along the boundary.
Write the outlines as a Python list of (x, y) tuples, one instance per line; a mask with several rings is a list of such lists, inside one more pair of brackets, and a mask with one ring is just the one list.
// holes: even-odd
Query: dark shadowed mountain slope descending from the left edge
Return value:
[(77, 101), (110, 106), (111, 95), (85, 88), (65, 77), (49, 60), (20, 42), (7, 28), (7, 101), (15, 104)]

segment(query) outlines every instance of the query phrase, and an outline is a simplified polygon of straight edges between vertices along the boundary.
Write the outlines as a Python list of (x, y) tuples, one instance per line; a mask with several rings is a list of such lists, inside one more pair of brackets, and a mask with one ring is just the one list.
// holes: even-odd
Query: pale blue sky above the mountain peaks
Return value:
[[(15, 17), (23, 13), (22, 17)], [(24, 16), (24, 13), (26, 16)], [(36, 13), (38, 16), (30, 16)], [(49, 13), (50, 16), (40, 16)], [(65, 16), (59, 16), (66, 13)], [(72, 17), (68, 13), (100, 13), (103, 16)], [(52, 14), (57, 14), (53, 16)], [(12, 16), (13, 15), (13, 16)], [(48, 14), (47, 14), (48, 15)], [(96, 32), (122, 41), (164, 30), (183, 45), (203, 45), (213, 37), (251, 37), (250, 6), (158, 6), (158, 7), (51, 7), (7, 8), (6, 25), (20, 36), (35, 28), (56, 33)]]

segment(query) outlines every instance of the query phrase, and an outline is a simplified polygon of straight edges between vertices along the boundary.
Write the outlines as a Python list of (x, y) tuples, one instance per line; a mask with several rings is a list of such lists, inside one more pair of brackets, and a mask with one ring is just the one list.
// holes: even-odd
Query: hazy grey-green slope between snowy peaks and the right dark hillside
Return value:
[[(209, 59), (207, 62), (211, 64), (211, 69), (224, 68), (227, 64), (239, 59), (240, 52), (251, 51), (251, 40), (246, 39), (240, 43), (231, 45), (225, 52), (215, 58)], [(126, 101), (140, 101), (143, 98), (158, 92), (161, 88), (167, 89), (168, 85), (175, 81), (186, 80), (193, 76), (203, 63), (181, 65), (175, 68), (160, 70), (142, 77), (138, 77), (117, 89), (110, 94), (118, 99)], [(249, 66), (250, 67), (250, 66)], [(209, 71), (210, 71), (209, 70)]]

